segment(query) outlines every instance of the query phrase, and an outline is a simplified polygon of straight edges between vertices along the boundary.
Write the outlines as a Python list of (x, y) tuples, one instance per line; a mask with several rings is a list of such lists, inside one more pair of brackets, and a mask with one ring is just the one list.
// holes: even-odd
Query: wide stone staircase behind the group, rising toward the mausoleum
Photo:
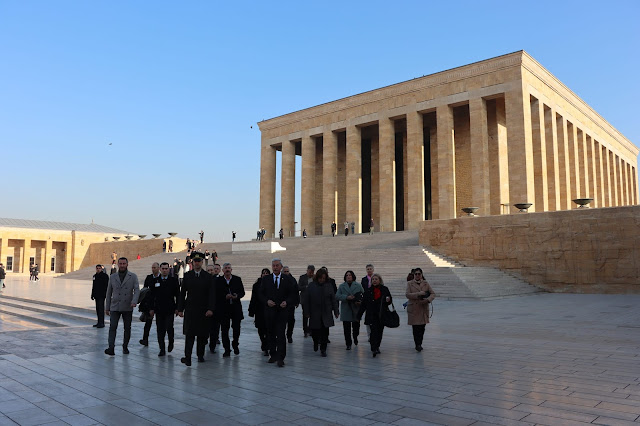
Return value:
[[(271, 259), (279, 257), (297, 278), (305, 273), (307, 265), (326, 266), (329, 275), (339, 284), (344, 273), (353, 270), (358, 280), (365, 274), (365, 265), (371, 263), (391, 293), (404, 298), (406, 277), (415, 267), (421, 267), (425, 277), (439, 297), (445, 299), (491, 299), (539, 292), (536, 287), (493, 268), (465, 267), (418, 243), (416, 231), (285, 238), (276, 240), (286, 251), (278, 253), (232, 253), (231, 243), (205, 243), (201, 251), (215, 249), (218, 263), (229, 262), (233, 273), (243, 278), (246, 289), (255, 282)], [(141, 260), (130, 260), (129, 269), (138, 274), (140, 281), (151, 273), (153, 262), (172, 263), (174, 258), (185, 258), (186, 251), (161, 253)], [(81, 269), (63, 278), (91, 280), (94, 267)]]

